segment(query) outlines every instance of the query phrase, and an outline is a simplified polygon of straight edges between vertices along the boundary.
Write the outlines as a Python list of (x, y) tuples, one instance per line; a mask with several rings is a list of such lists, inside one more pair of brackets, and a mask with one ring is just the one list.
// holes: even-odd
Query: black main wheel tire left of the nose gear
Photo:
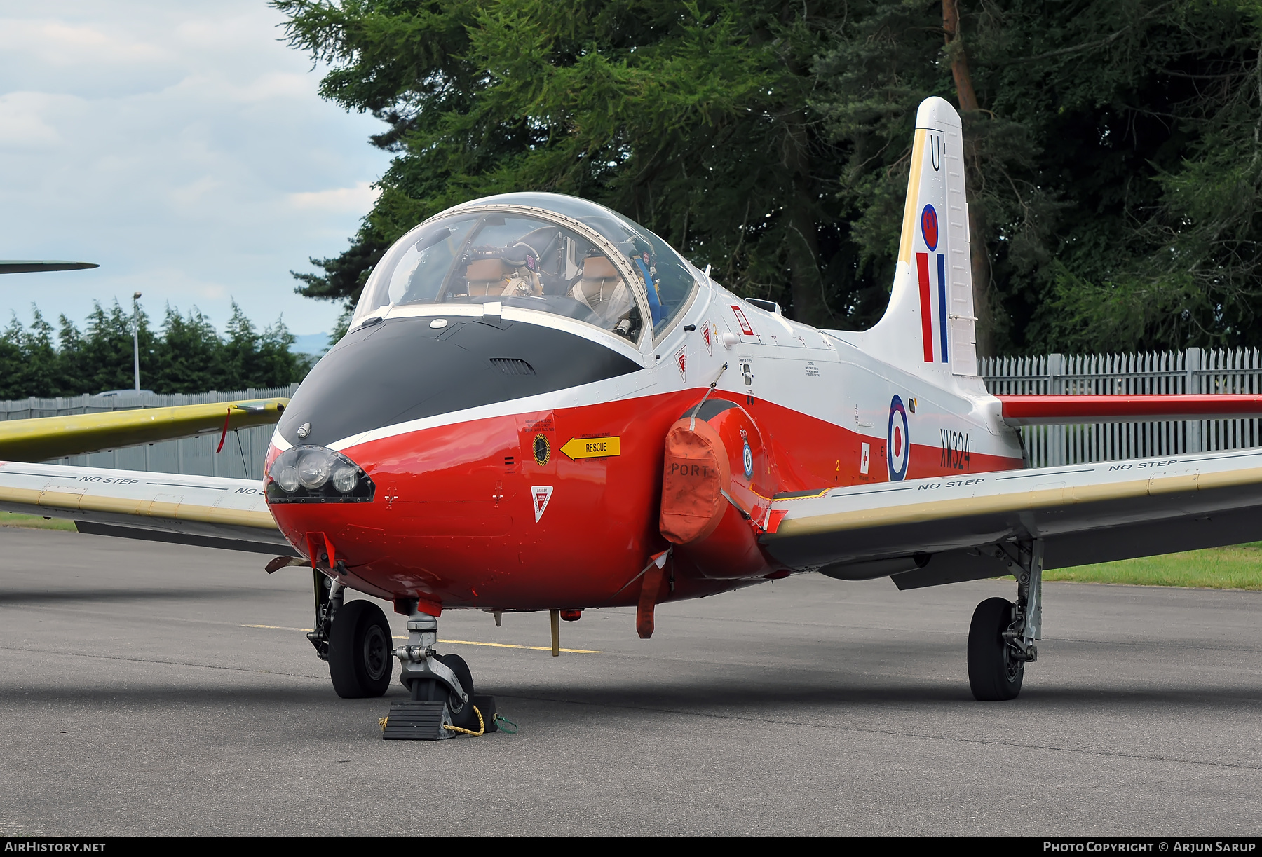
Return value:
[(371, 601), (348, 601), (333, 616), (328, 675), (343, 699), (380, 697), (390, 687), (394, 647), (386, 615)]

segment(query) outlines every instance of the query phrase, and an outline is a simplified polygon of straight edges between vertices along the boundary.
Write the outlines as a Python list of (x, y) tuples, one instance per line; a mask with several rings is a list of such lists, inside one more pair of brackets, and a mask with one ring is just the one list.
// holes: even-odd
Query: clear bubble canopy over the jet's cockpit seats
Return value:
[(695, 288), (670, 245), (604, 206), (505, 193), (448, 208), (399, 239), (351, 326), (394, 307), (500, 302), (639, 342), (646, 327), (665, 331)]

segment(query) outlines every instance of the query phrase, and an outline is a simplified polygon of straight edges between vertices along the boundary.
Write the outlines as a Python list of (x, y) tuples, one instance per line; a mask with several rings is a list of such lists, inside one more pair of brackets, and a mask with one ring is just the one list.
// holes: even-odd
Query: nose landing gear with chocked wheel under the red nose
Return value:
[[(457, 735), (448, 726), (461, 730), (478, 730), (478, 714), (473, 711), (473, 677), (468, 664), (459, 655), (439, 655), (438, 618), (413, 607), (408, 617), (408, 645), (399, 646), (394, 655), (403, 664), (399, 680), (411, 692), (408, 702), (390, 707), (382, 732), (386, 740), (438, 741)], [(491, 707), (483, 713), (487, 731), (492, 723)]]

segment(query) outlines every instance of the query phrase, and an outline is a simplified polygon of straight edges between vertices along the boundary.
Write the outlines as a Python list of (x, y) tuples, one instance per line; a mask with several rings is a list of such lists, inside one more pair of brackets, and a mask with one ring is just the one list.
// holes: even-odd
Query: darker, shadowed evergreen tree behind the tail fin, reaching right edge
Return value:
[[(1262, 343), (1256, 4), (960, 5), (998, 350)], [(820, 112), (852, 145), (861, 257), (880, 260), (901, 226), (915, 106), (955, 86), (938, 4), (854, 11), (815, 72)]]

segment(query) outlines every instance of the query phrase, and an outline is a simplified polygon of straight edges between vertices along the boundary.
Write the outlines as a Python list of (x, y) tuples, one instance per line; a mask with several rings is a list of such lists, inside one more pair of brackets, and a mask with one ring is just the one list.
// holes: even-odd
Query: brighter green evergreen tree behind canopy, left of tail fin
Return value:
[(844, 4), (276, 0), (321, 92), (389, 122), (381, 197), (300, 293), (353, 302), (448, 206), (554, 191), (617, 208), (729, 287), (830, 323), (839, 153), (808, 96)]

